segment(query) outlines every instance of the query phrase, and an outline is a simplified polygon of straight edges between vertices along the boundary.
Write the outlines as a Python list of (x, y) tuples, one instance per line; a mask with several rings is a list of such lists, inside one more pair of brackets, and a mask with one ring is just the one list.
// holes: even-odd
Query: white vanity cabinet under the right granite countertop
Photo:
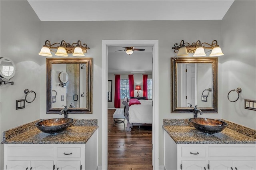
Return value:
[(256, 170), (256, 144), (176, 144), (164, 130), (165, 170)]

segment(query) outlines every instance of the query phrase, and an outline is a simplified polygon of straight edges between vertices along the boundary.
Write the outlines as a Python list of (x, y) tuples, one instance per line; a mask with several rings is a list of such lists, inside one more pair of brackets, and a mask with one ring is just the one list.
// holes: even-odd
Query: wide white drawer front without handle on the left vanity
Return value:
[(8, 146), (7, 156), (18, 157), (54, 157), (54, 147)]

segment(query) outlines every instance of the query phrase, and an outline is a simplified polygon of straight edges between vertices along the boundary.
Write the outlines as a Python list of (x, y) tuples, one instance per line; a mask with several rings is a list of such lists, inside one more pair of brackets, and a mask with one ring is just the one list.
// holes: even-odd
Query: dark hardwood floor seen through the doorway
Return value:
[[(133, 127), (113, 120), (108, 110), (108, 170), (152, 170), (152, 127)], [(126, 124), (126, 123), (125, 123)]]

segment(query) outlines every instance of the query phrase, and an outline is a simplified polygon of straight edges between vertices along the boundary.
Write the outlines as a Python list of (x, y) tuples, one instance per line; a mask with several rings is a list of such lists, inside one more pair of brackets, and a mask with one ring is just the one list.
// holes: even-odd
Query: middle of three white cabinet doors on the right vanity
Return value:
[(232, 160), (209, 160), (209, 170), (231, 170), (233, 167)]

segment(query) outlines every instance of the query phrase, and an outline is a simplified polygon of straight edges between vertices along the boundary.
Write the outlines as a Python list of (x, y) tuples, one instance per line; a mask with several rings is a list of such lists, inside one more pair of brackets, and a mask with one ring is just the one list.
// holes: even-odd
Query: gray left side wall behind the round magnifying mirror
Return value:
[[(1, 56), (9, 57), (16, 65), (14, 85), (1, 85), (0, 129), (2, 132), (40, 117), (40, 71), (38, 57), (40, 20), (27, 1), (0, 1), (1, 3)], [(45, 83), (45, 82), (44, 82)], [(24, 89), (36, 92), (36, 99), (26, 103), (25, 109), (16, 110), (16, 100), (24, 99)], [(31, 95), (31, 97), (34, 97)], [(1, 167), (3, 169), (3, 144)]]

